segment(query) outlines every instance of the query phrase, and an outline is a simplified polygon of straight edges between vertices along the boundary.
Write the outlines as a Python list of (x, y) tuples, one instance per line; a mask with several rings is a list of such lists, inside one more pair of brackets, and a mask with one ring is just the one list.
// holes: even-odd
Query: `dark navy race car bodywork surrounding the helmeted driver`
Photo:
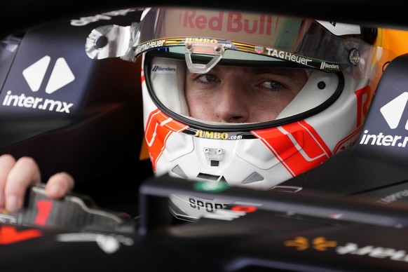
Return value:
[[(325, 4), (320, 1), (306, 10), (301, 10), (304, 2), (294, 2), (297, 8), (277, 5), (277, 11), (298, 15), (311, 11), (311, 16), (322, 16), (318, 11)], [(97, 6), (93, 1), (88, 5), (91, 3)], [(363, 4), (367, 3), (354, 3), (353, 8)], [(53, 4), (43, 1), (42, 5)], [(137, 63), (86, 57), (85, 40), (92, 29), (107, 22), (128, 25), (139, 16), (137, 8), (128, 8), (134, 3), (111, 5), (87, 6), (80, 13), (67, 8), (62, 19), (12, 24), (4, 35), (1, 154), (33, 156), (42, 167), (43, 179), (60, 170), (72, 172), (78, 182), (76, 190), (92, 195), (103, 206), (95, 207), (83, 195), (62, 202), (27, 201), (28, 212), (15, 217), (20, 222), (0, 221), (0, 267), (4, 271), (407, 269), (407, 55), (386, 67), (355, 147), (276, 190), (208, 188), (200, 182), (151, 176), (149, 160), (143, 157)], [(343, 11), (347, 7), (336, 5)], [(339, 14), (339, 20), (346, 20)], [(358, 19), (373, 23), (376, 18), (362, 15)], [(375, 23), (384, 23), (380, 19)], [(402, 26), (395, 19), (387, 24)], [(41, 69), (40, 76), (29, 76)], [(53, 85), (50, 82), (57, 69), (63, 76)], [(94, 189), (95, 184), (109, 188)], [(171, 193), (217, 196), (231, 199), (231, 204), (216, 210), (205, 203), (192, 203), (196, 209), (206, 209), (207, 215), (197, 222), (175, 224), (168, 210)], [(111, 202), (114, 204), (108, 204)], [(130, 231), (96, 224), (100, 217), (77, 222), (78, 213), (67, 212), (72, 203), (87, 215), (102, 216), (102, 211), (116, 215), (104, 208), (121, 207), (140, 218)], [(39, 205), (48, 205), (49, 213), (43, 214), (39, 207), (45, 206)], [(64, 216), (55, 219), (58, 215)], [(58, 224), (51, 226), (47, 222), (51, 217)], [(119, 225), (129, 222), (122, 217), (114, 220)]]

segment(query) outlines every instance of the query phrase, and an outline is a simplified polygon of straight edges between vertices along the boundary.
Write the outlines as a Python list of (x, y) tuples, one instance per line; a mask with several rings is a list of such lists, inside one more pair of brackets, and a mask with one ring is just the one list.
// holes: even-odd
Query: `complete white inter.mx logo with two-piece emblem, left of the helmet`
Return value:
[[(34, 62), (22, 72), (32, 93), (39, 91), (43, 83), (44, 76), (48, 70), (51, 57), (46, 55), (40, 60)], [(52, 68), (50, 79), (46, 83), (46, 93), (52, 94), (60, 88), (66, 86), (75, 80), (75, 76), (69, 68), (64, 57), (59, 57), (54, 67)], [(3, 106), (8, 107), (24, 107), (29, 109), (41, 109), (44, 111), (55, 111), (69, 114), (73, 103), (60, 100), (52, 100), (34, 95), (26, 95), (24, 93), (15, 94), (12, 90), (6, 92), (6, 96), (2, 102)]]

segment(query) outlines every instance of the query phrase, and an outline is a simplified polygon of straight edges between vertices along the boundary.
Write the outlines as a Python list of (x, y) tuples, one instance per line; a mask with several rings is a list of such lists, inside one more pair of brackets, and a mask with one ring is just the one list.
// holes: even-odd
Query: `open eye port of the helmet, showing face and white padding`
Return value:
[(341, 73), (291, 62), (259, 62), (247, 56), (239, 64), (223, 59), (201, 73), (191, 72), (179, 56), (150, 51), (144, 57), (144, 76), (156, 105), (192, 125), (290, 123), (322, 111), (344, 87)]

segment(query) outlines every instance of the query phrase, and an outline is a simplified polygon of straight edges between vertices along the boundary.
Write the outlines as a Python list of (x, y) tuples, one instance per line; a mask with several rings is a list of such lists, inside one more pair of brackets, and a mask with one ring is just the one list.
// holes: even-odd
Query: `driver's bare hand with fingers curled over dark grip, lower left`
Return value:
[[(22, 208), (30, 185), (41, 183), (41, 173), (31, 157), (16, 160), (10, 154), (0, 156), (0, 210), (17, 212)], [(46, 195), (57, 199), (74, 188), (74, 178), (66, 172), (51, 176), (46, 184)]]

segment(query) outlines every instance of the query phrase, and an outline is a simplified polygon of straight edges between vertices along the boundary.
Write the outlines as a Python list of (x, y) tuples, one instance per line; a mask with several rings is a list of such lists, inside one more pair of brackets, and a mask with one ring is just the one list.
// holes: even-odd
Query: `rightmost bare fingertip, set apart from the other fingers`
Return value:
[(48, 179), (46, 195), (49, 198), (62, 198), (74, 188), (74, 178), (67, 172), (57, 173)]

